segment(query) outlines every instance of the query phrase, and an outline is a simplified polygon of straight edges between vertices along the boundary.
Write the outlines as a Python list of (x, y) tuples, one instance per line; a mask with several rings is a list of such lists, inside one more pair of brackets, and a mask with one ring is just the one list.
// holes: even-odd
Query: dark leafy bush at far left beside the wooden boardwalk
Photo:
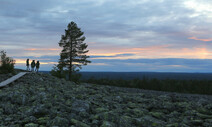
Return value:
[(15, 60), (7, 57), (5, 51), (0, 52), (0, 73), (7, 74), (14, 72)]

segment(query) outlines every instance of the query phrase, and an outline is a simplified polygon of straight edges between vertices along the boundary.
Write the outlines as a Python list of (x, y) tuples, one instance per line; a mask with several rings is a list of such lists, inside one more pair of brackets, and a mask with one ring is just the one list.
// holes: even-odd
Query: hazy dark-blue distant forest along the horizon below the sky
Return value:
[(171, 73), (171, 72), (80, 72), (83, 80), (95, 79), (176, 79), (176, 80), (212, 80), (212, 73)]

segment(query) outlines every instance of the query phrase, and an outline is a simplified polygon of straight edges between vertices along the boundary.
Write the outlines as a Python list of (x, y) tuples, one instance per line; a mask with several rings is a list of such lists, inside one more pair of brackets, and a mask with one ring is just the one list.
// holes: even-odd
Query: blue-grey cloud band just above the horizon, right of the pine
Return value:
[(211, 59), (95, 59), (93, 63), (103, 62), (110, 66), (85, 66), (82, 71), (120, 71), (120, 72), (211, 72)]

